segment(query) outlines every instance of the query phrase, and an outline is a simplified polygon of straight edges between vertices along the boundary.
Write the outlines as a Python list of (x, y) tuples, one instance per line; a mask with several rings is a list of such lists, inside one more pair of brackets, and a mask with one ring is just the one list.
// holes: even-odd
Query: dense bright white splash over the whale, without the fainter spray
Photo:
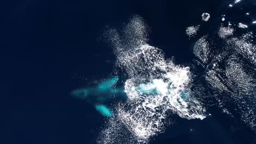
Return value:
[[(125, 92), (129, 100), (120, 104), (118, 109), (121, 120), (139, 140), (147, 140), (160, 133), (164, 129), (168, 111), (187, 119), (205, 118), (202, 115), (205, 109), (198, 101), (184, 100), (181, 97), (190, 81), (189, 68), (164, 61), (161, 53), (158, 54), (157, 51), (159, 50), (155, 47), (144, 45), (136, 49), (137, 54), (133, 53), (132, 57), (128, 54), (125, 61), (121, 61), (129, 68), (133, 68), (137, 64), (133, 62), (138, 61), (143, 62), (140, 69), (151, 69), (145, 71), (146, 75), (137, 74), (136, 71), (136, 75), (125, 82)], [(154, 56), (159, 57), (160, 61), (151, 61), (150, 57)], [(137, 89), (138, 87), (144, 88), (144, 91)], [(156, 92), (148, 93), (150, 89), (155, 89)]]

